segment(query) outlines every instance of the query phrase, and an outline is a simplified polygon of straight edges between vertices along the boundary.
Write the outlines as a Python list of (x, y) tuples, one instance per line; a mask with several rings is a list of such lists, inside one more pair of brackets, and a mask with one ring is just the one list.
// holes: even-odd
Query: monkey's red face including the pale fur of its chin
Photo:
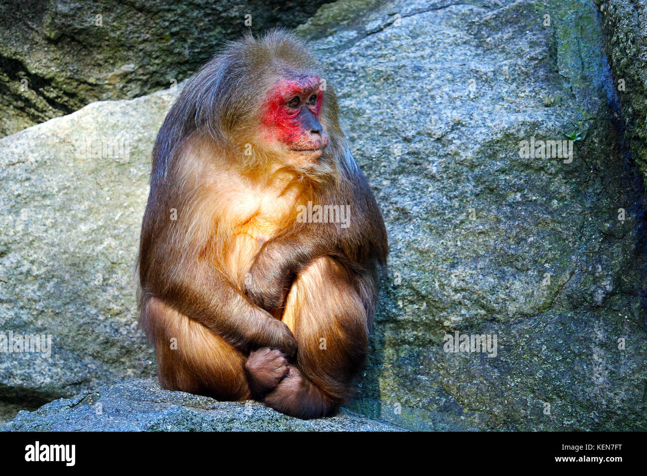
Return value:
[(286, 75), (272, 85), (263, 106), (259, 137), (296, 165), (316, 161), (328, 145), (319, 116), (323, 87), (315, 74)]

